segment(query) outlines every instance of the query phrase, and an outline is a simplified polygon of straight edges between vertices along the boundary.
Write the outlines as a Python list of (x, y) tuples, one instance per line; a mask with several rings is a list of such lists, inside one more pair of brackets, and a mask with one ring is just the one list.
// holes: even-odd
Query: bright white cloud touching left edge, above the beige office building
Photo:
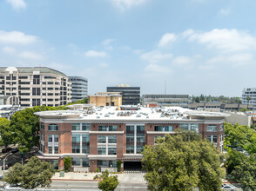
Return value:
[(25, 35), (23, 32), (0, 30), (0, 43), (29, 44), (37, 42), (37, 36)]

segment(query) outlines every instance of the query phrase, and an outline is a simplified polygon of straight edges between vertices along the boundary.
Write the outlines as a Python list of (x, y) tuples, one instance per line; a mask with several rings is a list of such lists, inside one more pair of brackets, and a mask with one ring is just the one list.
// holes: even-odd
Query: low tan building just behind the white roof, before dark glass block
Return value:
[(96, 106), (116, 106), (120, 110), (122, 94), (120, 92), (98, 92), (98, 94), (89, 95), (89, 103)]

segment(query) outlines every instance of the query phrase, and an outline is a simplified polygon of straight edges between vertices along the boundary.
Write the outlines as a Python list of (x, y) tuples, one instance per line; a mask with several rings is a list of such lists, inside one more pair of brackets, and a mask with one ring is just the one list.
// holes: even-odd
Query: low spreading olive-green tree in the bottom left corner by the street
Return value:
[(54, 169), (49, 162), (40, 161), (37, 156), (33, 156), (24, 167), (17, 163), (10, 168), (4, 181), (10, 184), (21, 183), (22, 187), (26, 189), (34, 189), (39, 186), (49, 187), (53, 174)]

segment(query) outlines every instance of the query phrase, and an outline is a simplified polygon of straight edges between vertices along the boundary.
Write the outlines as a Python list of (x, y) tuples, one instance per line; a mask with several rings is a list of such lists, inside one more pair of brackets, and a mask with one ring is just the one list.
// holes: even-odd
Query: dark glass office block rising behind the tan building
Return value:
[(140, 103), (140, 88), (120, 84), (115, 87), (107, 87), (107, 92), (121, 92), (122, 105), (138, 105)]

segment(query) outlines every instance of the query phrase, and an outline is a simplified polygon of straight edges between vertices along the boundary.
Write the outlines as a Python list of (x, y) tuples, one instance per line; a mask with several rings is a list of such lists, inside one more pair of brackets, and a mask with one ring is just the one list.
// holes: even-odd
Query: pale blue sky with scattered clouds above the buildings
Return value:
[(0, 66), (125, 83), (142, 94), (256, 87), (255, 0), (1, 0)]

